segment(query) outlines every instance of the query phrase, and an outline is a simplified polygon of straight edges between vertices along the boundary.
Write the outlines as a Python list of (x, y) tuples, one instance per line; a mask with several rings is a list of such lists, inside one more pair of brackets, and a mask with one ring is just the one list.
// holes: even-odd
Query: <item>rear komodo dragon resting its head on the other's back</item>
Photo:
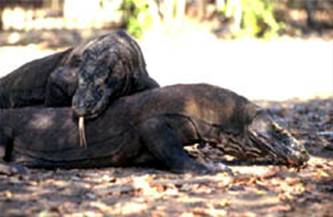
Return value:
[(92, 118), (121, 96), (155, 87), (138, 44), (111, 31), (1, 78), (0, 108), (72, 106), (76, 116)]

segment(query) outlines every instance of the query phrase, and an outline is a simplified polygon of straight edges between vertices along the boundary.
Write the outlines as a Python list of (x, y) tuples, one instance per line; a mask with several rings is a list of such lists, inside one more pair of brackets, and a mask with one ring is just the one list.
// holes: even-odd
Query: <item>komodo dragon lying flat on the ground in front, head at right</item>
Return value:
[[(246, 98), (207, 84), (174, 85), (122, 97), (100, 118), (87, 121), (86, 149), (79, 143), (71, 108), (5, 109), (0, 145), (5, 160), (37, 168), (155, 166), (175, 173), (212, 172), (191, 159), (183, 146), (219, 143), (226, 153), (269, 156), (300, 167), (304, 146)], [(221, 147), (221, 146), (220, 146)]]

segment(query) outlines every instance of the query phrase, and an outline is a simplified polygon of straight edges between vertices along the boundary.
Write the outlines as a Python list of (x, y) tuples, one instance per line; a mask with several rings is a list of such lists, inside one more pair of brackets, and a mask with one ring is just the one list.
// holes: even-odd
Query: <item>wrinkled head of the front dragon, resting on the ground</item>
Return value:
[(264, 159), (292, 167), (302, 167), (309, 160), (304, 145), (264, 110), (256, 113), (244, 134), (223, 133), (219, 148), (238, 159)]

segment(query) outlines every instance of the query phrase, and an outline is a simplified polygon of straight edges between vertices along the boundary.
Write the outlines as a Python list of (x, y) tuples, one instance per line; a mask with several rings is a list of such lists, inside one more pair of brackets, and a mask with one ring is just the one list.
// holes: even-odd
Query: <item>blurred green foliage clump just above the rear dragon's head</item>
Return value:
[(140, 37), (152, 24), (153, 17), (145, 0), (124, 0), (121, 9), (127, 31), (135, 37)]

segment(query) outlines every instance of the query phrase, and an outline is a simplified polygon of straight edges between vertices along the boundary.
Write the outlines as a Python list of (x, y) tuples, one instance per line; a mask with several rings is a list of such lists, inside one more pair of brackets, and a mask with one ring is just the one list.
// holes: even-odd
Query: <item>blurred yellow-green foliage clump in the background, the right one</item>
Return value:
[[(235, 4), (235, 2), (238, 2), (238, 4)], [(233, 8), (230, 9), (230, 7)], [(230, 10), (232, 10), (231, 15)], [(237, 14), (237, 10), (240, 13)], [(236, 31), (232, 32), (235, 37), (271, 38), (276, 36), (283, 27), (274, 17), (274, 1), (270, 0), (228, 0), (222, 9), (222, 13), (240, 20), (239, 29), (236, 28)], [(236, 16), (240, 17), (237, 18)]]

